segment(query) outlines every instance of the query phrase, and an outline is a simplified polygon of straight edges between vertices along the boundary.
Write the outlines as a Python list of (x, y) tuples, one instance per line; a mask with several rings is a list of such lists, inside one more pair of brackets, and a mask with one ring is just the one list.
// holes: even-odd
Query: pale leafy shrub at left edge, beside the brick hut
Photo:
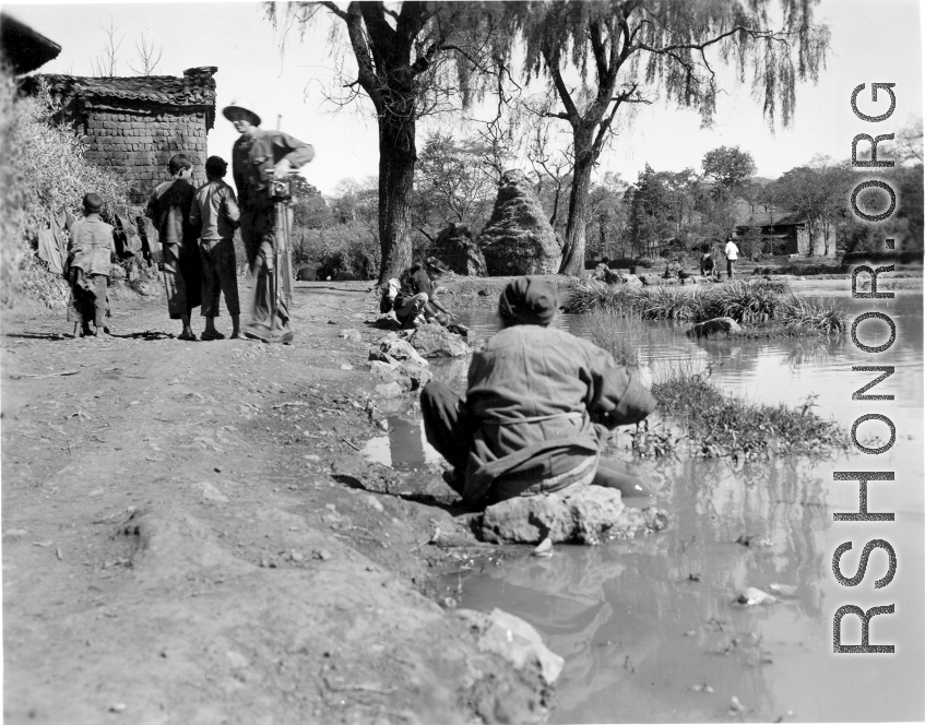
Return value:
[(47, 94), (16, 98), (15, 83), (0, 71), (0, 305), (21, 295), (63, 307), (68, 289), (35, 253), (36, 237), (61, 212), (82, 213), (90, 191), (103, 198), (102, 216), (128, 203), (128, 185), (83, 157), (73, 131), (49, 122), (56, 108)]

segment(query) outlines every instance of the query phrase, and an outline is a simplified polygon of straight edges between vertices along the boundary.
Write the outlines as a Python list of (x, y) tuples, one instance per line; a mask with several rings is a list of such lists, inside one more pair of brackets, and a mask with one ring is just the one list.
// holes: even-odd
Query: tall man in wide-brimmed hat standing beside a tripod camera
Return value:
[(261, 129), (260, 116), (244, 98), (233, 100), (222, 112), (241, 134), (232, 148), (232, 173), (241, 210), (241, 238), (253, 276), (251, 320), (244, 325), (244, 334), (288, 343), (293, 338), (289, 311), (283, 299), (277, 299), (274, 277), (276, 211), (271, 182), (310, 162), (315, 150), (288, 133)]

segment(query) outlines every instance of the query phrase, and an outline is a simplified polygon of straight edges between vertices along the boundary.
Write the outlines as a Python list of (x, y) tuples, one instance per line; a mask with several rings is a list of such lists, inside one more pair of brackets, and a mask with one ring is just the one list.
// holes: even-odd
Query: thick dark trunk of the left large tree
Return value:
[(411, 201), (417, 163), (414, 121), (379, 118), (379, 283), (411, 266)]

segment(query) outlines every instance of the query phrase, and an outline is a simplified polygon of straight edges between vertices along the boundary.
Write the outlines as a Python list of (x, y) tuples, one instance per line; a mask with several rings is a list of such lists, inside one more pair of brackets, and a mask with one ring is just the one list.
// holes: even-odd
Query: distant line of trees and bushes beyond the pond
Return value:
[[(565, 238), (564, 200), (571, 193), (574, 177), (567, 155), (547, 157), (541, 153), (543, 147), (526, 148), (531, 177), (547, 218)], [(475, 235), (481, 231), (491, 214), (500, 176), (495, 151), (478, 134), (458, 138), (435, 131), (425, 136), (411, 197), (413, 252), (425, 251), (450, 223), (466, 224)], [(804, 216), (810, 234), (821, 234), (817, 249), (825, 254), (882, 251), (886, 237), (896, 238), (898, 249), (921, 251), (923, 166), (917, 119), (898, 133), (892, 154), (886, 157), (894, 158), (897, 166), (880, 169), (880, 176), (900, 199), (886, 225), (867, 225), (851, 214), (849, 201), (857, 174), (850, 159), (816, 156), (778, 179), (767, 179), (755, 176), (749, 152), (721, 146), (703, 156), (700, 169), (656, 171), (647, 165), (633, 183), (606, 174), (589, 189), (586, 261), (656, 259), (721, 247), (743, 215), (769, 213), (775, 218)], [(295, 204), (296, 261), (376, 277), (381, 259), (378, 189), (375, 178), (345, 179), (325, 198), (303, 180)], [(859, 207), (867, 213), (882, 211), (885, 204), (876, 192), (858, 197)], [(834, 250), (827, 246), (832, 239)], [(740, 246), (743, 253), (755, 259), (779, 252), (774, 241), (762, 238), (758, 229), (742, 237)]]

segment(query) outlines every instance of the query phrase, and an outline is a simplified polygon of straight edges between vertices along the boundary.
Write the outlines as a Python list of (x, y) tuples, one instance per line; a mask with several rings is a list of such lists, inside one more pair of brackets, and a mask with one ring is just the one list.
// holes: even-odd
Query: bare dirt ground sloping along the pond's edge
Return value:
[(180, 342), (134, 296), (98, 341), (3, 316), (7, 723), (545, 717), (432, 575), (473, 552), (437, 545), (467, 535), (449, 488), (357, 452), (369, 287), (299, 283), (292, 346)]

